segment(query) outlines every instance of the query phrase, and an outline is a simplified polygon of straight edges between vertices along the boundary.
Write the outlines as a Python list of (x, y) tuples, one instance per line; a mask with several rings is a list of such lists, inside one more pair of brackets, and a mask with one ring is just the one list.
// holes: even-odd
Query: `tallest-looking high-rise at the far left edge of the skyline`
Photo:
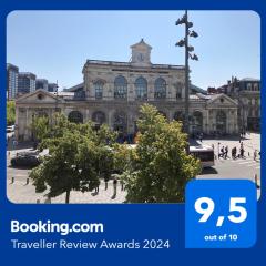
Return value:
[(14, 99), (18, 93), (18, 75), (19, 75), (19, 68), (8, 63), (7, 64), (8, 100)]

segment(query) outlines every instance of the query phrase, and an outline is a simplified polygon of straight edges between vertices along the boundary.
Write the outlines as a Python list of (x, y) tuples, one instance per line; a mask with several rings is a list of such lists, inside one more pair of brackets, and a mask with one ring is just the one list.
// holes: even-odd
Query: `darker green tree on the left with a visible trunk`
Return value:
[[(42, 129), (40, 123), (37, 127)], [(49, 134), (41, 139), (41, 146), (49, 149), (49, 155), (33, 168), (30, 177), (35, 191), (48, 190), (49, 197), (65, 193), (65, 203), (69, 203), (71, 191), (92, 191), (99, 185), (104, 171), (112, 171), (113, 150), (106, 142), (112, 144), (115, 134), (105, 125), (95, 132), (90, 122), (75, 124), (63, 115), (57, 115), (50, 124)]]

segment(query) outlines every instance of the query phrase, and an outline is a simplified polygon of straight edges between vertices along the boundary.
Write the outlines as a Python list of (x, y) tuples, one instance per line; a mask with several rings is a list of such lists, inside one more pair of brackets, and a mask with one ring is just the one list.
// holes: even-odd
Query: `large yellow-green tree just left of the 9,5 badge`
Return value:
[[(187, 155), (182, 123), (166, 119), (156, 108), (141, 108), (139, 144), (131, 151), (126, 173), (130, 203), (184, 202), (186, 183), (200, 173), (200, 162)], [(123, 174), (124, 175), (124, 174)]]

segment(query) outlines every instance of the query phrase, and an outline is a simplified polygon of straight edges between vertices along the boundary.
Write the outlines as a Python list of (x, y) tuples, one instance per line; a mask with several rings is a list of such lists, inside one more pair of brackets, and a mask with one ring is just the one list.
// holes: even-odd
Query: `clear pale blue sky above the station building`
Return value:
[[(7, 62), (69, 88), (82, 82), (86, 59), (129, 62), (130, 45), (144, 38), (152, 62), (184, 64), (174, 44), (184, 35), (183, 11), (14, 11), (7, 20)], [(188, 11), (200, 61), (192, 83), (219, 86), (232, 75), (260, 78), (260, 19), (253, 11)]]

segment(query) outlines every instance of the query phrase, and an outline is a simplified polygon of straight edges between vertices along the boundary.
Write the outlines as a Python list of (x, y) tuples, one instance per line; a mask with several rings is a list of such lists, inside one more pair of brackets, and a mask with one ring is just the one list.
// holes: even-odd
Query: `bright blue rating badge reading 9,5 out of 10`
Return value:
[(256, 186), (247, 180), (196, 180), (186, 186), (185, 246), (243, 248), (256, 242)]

